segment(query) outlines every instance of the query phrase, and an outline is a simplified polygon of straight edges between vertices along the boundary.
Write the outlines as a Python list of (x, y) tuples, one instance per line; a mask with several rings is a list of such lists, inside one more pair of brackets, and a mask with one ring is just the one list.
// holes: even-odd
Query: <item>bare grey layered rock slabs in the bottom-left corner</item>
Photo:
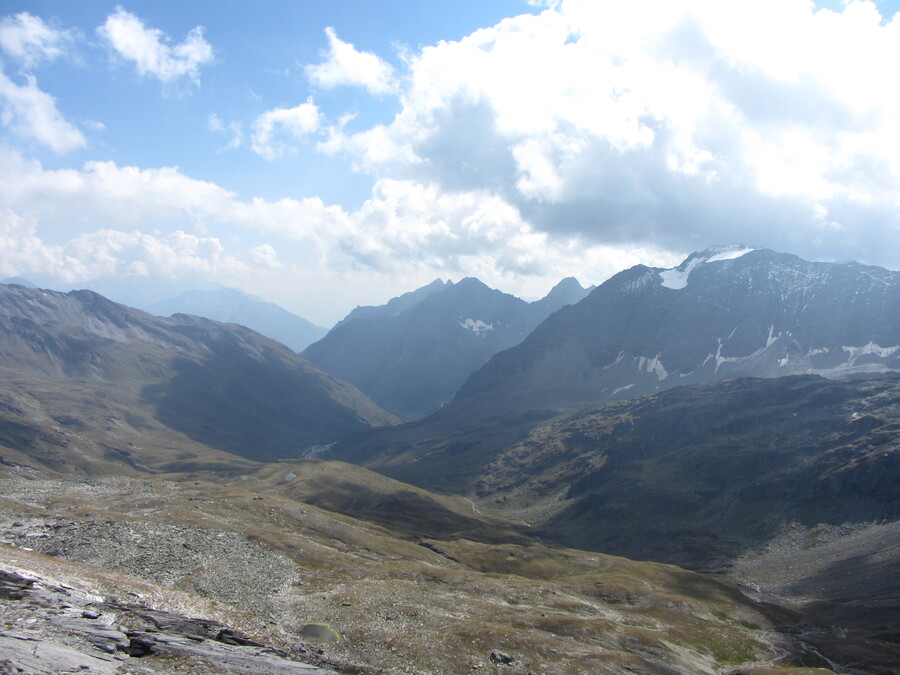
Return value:
[(129, 581), (148, 589), (111, 576), (0, 547), (0, 673), (333, 673), (221, 621), (156, 609), (145, 594), (108, 595)]

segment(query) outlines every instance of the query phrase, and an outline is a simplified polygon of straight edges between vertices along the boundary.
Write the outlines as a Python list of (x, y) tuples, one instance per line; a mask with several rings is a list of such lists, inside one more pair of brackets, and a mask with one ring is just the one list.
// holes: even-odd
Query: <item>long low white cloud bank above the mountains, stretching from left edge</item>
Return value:
[[(0, 150), (0, 175), (5, 276), (54, 275), (69, 284), (202, 277), (283, 289), (328, 283), (335, 288), (321, 299), (324, 323), (346, 310), (336, 297), (349, 306), (382, 302), (385, 293), (438, 276), (478, 276), (540, 296), (563, 276), (596, 282), (623, 265), (680, 258), (551, 238), (496, 195), (407, 180), (379, 179), (348, 211), (315, 197), (245, 200), (170, 167), (88, 162), (49, 170), (8, 149)], [(85, 233), (72, 238), (73, 227)]]

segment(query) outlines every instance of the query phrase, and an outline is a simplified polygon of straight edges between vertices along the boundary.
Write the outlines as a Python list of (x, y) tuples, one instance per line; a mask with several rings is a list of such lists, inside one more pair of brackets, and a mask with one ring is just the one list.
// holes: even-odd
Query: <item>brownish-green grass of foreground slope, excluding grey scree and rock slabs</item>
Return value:
[[(308, 468), (315, 478), (320, 467)], [(19, 529), (127, 522), (133, 533), (165, 523), (245, 536), (294, 565), (293, 580), (246, 586), (266, 589), (263, 618), (281, 643), (296, 643), (309, 623), (328, 624), (340, 639), (315, 646), (351, 672), (469, 672), (490, 665), (492, 650), (514, 658), (507, 672), (719, 673), (773, 662), (780, 663), (773, 672), (793, 672), (786, 654), (801, 651), (740, 594), (702, 575), (537, 542), (417, 544), (267, 491), (264, 482), (20, 481), (4, 484), (0, 517), (5, 536), (16, 529), (12, 521), (24, 523)], [(91, 553), (79, 554), (61, 541), (67, 528), (41, 531), (56, 534), (33, 539), (34, 547), (56, 546), (76, 560), (96, 561), (117, 545), (98, 538)], [(204, 574), (185, 570), (169, 585), (209, 594)], [(255, 606), (246, 596), (241, 602)]]

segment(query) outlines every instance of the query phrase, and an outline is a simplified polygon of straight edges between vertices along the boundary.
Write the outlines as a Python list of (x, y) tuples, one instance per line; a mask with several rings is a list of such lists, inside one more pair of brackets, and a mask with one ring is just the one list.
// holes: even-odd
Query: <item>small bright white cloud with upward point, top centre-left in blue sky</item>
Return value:
[(394, 69), (371, 52), (358, 52), (343, 42), (334, 28), (325, 29), (328, 54), (325, 62), (306, 66), (313, 84), (330, 89), (341, 85), (365, 87), (372, 94), (388, 94), (396, 89)]

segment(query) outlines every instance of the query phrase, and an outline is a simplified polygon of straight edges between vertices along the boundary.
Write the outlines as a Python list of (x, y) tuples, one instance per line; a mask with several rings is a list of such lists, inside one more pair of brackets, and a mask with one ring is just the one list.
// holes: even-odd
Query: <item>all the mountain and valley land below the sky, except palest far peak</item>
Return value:
[(0, 673), (898, 673), (898, 289), (722, 247), (301, 356), (0, 286)]

